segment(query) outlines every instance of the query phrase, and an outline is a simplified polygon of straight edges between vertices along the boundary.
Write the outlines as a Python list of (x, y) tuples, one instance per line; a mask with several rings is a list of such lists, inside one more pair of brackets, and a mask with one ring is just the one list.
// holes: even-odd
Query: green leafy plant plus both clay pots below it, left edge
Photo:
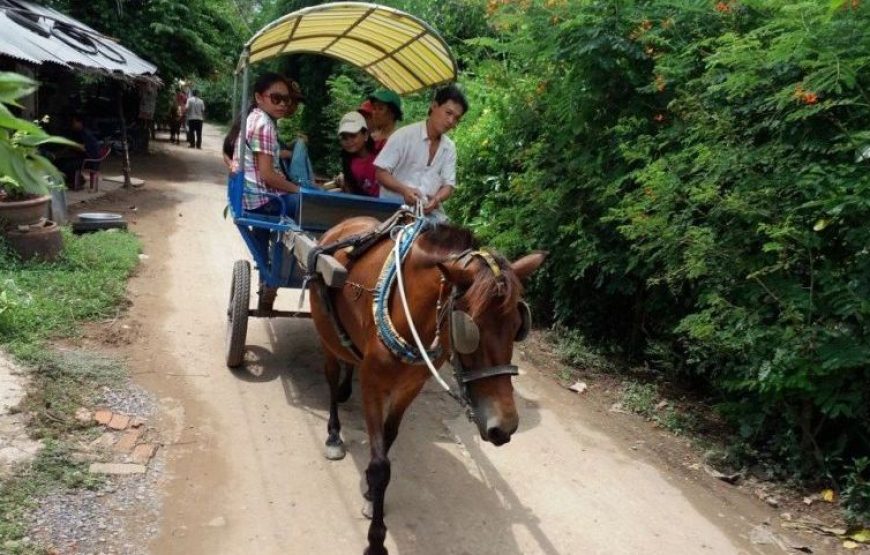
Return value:
[(63, 176), (38, 149), (48, 143), (79, 145), (9, 110), (36, 87), (23, 75), (0, 72), (0, 232), (22, 258), (52, 260), (63, 243), (57, 224), (44, 216), (49, 193), (63, 187)]

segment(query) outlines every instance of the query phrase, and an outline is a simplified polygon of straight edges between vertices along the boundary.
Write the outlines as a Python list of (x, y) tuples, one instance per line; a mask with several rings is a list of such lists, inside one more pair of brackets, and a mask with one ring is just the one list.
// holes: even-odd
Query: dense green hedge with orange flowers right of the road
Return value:
[(536, 293), (555, 320), (707, 384), (744, 445), (784, 471), (860, 466), (870, 6), (488, 10), (494, 33), (468, 41), (479, 61), (454, 216), (510, 253), (549, 249)]

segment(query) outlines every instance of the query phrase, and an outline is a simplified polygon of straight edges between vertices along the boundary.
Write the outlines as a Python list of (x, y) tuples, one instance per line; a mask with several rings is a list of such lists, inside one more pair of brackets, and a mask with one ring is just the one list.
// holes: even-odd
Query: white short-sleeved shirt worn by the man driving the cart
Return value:
[[(429, 164), (429, 136), (426, 122), (412, 123), (390, 135), (375, 158), (375, 166), (387, 170), (402, 184), (431, 198), (443, 185), (456, 187), (456, 145), (441, 135), (438, 150)], [(402, 195), (381, 187), (381, 198), (402, 200)], [(440, 212), (439, 208), (437, 212)], [(443, 214), (443, 212), (440, 212)]]

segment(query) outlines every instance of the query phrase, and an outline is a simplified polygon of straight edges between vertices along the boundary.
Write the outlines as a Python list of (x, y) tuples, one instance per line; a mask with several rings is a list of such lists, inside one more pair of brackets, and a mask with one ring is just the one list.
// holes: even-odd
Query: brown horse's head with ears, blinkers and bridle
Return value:
[(481, 437), (494, 445), (510, 441), (519, 416), (513, 396), (514, 342), (531, 323), (521, 281), (544, 261), (536, 252), (508, 263), (485, 251), (439, 264), (454, 290), (450, 319), (453, 366)]

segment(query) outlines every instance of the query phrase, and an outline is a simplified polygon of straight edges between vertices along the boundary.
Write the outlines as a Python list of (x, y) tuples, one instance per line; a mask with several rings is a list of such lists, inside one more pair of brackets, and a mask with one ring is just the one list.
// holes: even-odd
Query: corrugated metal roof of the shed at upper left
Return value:
[(53, 62), (156, 80), (157, 66), (113, 39), (57, 10), (20, 0), (0, 3), (0, 54), (32, 64)]

